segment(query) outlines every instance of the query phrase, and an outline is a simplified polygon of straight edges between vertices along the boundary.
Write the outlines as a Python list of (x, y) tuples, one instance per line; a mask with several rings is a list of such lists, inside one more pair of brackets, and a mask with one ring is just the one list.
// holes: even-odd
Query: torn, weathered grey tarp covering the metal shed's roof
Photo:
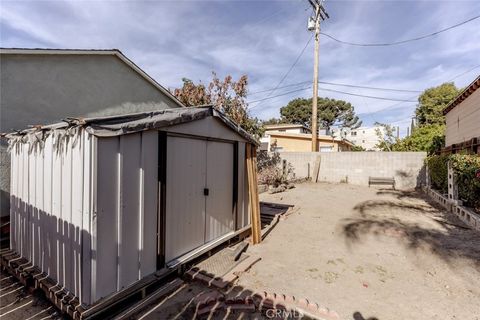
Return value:
[[(243, 130), (238, 124), (230, 120), (226, 115), (211, 106), (164, 109), (159, 111), (109, 117), (67, 118), (60, 123), (46, 126), (36, 126), (31, 129), (13, 132), (7, 134), (6, 137), (10, 140), (18, 141), (21, 137), (27, 138), (26, 136), (33, 135), (35, 136), (34, 139), (22, 140), (38, 140), (42, 139), (45, 134), (48, 135), (48, 133), (51, 131), (57, 133), (64, 131), (68, 135), (72, 132), (75, 132), (79, 128), (82, 128), (88, 133), (97, 137), (113, 137), (139, 131), (161, 129), (182, 123), (201, 120), (211, 116), (221, 120), (230, 129), (237, 132), (247, 141), (255, 145), (259, 145), (258, 141), (252, 135)], [(39, 133), (41, 133), (42, 137), (40, 137)]]

